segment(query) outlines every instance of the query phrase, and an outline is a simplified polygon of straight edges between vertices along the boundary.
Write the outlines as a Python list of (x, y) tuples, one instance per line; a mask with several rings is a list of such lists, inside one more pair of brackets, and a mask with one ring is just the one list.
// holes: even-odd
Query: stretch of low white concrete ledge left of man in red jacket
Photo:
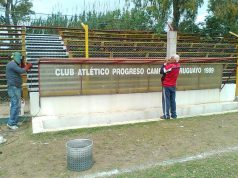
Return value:
[(78, 115), (40, 116), (32, 118), (33, 133), (76, 128), (121, 125), (158, 120), (161, 109), (128, 110)]

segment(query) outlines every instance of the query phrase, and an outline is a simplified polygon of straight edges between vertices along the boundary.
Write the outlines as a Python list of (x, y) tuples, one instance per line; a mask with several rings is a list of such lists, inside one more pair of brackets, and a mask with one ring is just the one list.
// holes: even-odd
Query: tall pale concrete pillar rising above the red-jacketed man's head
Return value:
[(167, 32), (167, 57), (177, 53), (177, 31)]

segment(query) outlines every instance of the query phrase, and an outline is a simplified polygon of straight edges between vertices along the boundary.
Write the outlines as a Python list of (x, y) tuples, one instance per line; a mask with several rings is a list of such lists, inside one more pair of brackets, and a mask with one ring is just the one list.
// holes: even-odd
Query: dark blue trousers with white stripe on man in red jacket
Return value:
[(176, 113), (176, 87), (163, 87), (162, 88), (162, 106), (165, 118), (177, 118)]

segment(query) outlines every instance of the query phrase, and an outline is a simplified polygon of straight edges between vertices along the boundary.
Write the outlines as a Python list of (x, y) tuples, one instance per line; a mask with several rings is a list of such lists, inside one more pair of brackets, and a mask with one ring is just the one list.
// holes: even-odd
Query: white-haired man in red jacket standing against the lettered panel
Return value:
[(162, 106), (163, 116), (161, 119), (177, 118), (176, 113), (176, 82), (179, 75), (180, 64), (179, 55), (174, 55), (161, 67), (160, 73), (163, 74), (162, 82)]

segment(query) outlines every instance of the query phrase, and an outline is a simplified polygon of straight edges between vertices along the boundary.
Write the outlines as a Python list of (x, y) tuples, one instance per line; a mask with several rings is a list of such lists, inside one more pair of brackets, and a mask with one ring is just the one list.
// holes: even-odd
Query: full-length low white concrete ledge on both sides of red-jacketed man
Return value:
[[(198, 105), (180, 105), (179, 117), (192, 117), (204, 114), (238, 112), (238, 102), (207, 103)], [(59, 131), (76, 128), (121, 125), (128, 123), (160, 120), (161, 108), (146, 110), (124, 110), (106, 113), (83, 113), (75, 115), (39, 116), (32, 119), (33, 133)]]

